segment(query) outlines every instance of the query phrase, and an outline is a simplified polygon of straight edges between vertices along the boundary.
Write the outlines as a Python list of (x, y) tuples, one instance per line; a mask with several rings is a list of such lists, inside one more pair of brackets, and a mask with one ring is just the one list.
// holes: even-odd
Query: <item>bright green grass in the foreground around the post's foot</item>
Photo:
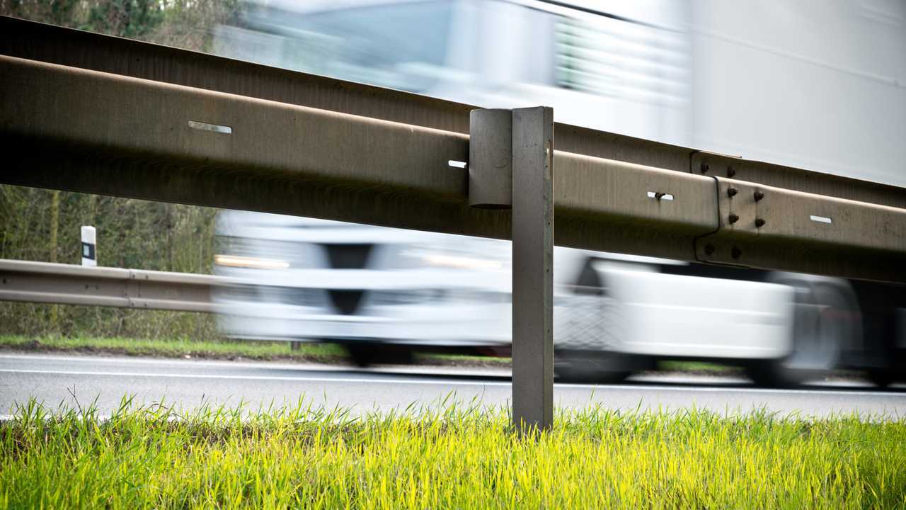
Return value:
[(445, 406), (180, 413), (30, 402), (0, 425), (0, 506), (44, 508), (904, 508), (906, 423), (757, 412)]

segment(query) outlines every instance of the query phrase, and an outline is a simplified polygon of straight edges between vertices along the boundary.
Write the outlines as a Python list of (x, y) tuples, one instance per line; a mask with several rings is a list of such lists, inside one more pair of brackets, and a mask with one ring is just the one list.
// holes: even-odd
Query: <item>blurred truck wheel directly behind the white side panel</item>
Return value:
[(809, 375), (836, 367), (843, 346), (855, 333), (856, 307), (837, 280), (806, 275), (778, 275), (772, 280), (795, 288), (793, 349), (785, 358), (750, 362), (747, 373), (758, 385), (793, 387)]

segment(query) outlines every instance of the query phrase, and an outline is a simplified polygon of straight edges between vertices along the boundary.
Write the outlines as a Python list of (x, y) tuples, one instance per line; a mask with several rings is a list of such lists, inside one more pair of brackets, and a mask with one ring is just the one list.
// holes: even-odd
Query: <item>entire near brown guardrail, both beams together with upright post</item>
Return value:
[(513, 239), (517, 424), (552, 420), (554, 241), (906, 282), (901, 188), (473, 110), (0, 17), (0, 182)]

